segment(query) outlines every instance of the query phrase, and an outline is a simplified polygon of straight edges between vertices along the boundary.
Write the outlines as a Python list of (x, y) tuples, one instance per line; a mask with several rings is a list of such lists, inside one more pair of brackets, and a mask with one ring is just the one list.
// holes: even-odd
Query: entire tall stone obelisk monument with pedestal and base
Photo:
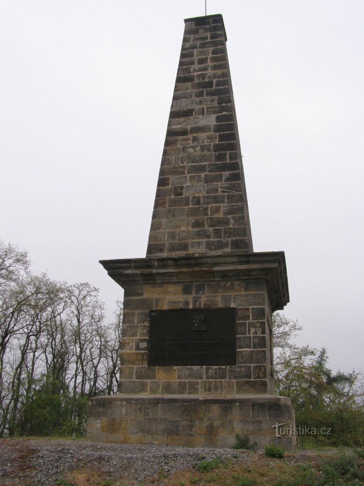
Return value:
[(284, 252), (253, 252), (221, 15), (185, 20), (146, 258), (101, 263), (124, 289), (120, 389), (91, 399), (89, 439), (294, 445), (273, 394)]

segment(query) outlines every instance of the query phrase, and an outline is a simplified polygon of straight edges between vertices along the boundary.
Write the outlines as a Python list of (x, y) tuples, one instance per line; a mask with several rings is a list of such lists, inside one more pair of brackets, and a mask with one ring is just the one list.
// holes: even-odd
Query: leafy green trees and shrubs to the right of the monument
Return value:
[(275, 393), (292, 399), (296, 428), (303, 431), (299, 443), (363, 449), (363, 371), (333, 373), (325, 348), (295, 344), (300, 330), (297, 321), (273, 314)]

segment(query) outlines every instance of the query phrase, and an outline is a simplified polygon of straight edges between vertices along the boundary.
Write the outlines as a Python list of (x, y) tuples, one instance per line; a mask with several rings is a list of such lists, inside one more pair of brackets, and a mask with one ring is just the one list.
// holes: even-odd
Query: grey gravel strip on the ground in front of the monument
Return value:
[(87, 442), (63, 439), (0, 439), (0, 486), (52, 486), (70, 471), (103, 473), (115, 484), (145, 485), (158, 472), (192, 468), (201, 459), (249, 461), (246, 451)]

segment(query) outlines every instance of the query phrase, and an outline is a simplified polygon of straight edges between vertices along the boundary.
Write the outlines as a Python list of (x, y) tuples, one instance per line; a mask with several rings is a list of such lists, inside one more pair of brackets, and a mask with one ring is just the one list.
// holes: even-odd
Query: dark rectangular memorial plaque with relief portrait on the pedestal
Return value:
[(149, 366), (236, 364), (236, 309), (151, 311)]

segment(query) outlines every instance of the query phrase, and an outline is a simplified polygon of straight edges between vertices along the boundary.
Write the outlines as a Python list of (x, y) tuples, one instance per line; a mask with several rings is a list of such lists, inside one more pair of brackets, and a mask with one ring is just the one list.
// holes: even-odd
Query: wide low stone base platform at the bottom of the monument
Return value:
[[(284, 424), (280, 436), (276, 424)], [(294, 427), (295, 412), (286, 397), (112, 395), (90, 400), (87, 439), (231, 447), (241, 434), (259, 447), (274, 443), (290, 450), (295, 446)]]

